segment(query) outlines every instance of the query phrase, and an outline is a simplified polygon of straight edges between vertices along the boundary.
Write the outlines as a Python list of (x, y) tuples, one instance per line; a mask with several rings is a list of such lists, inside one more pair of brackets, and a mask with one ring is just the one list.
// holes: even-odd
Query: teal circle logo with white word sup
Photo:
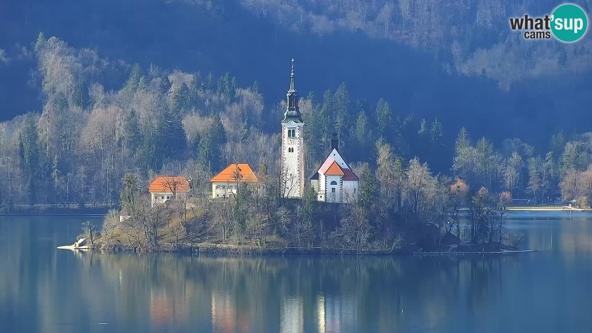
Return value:
[(576, 41), (584, 36), (587, 27), (588, 17), (577, 5), (561, 5), (551, 15), (551, 31), (558, 40)]

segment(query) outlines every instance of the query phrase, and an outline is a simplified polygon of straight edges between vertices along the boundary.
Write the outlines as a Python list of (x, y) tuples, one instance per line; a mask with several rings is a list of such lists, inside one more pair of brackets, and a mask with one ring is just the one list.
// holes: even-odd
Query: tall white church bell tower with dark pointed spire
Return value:
[(304, 121), (298, 107), (298, 92), (294, 88), (294, 59), (286, 101), (286, 111), (281, 121), (280, 194), (282, 197), (300, 198), (304, 194)]

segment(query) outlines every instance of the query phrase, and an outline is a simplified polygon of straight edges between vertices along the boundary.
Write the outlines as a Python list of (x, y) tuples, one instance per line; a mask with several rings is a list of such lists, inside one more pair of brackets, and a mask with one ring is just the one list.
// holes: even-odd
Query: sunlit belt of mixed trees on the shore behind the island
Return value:
[[(258, 81), (241, 87), (229, 73), (142, 68), (43, 33), (20, 56), (34, 65), (28, 84), (44, 103), (40, 112), (0, 127), (7, 203), (116, 202), (127, 172), (145, 181), (157, 173), (184, 173), (200, 188), (234, 162), (279, 174), (277, 132), (285, 101), (278, 97), (279, 103), (266, 104)], [(286, 87), (288, 69), (280, 75)], [(474, 190), (507, 190), (514, 197), (529, 193), (538, 201), (560, 193), (560, 187), (566, 200), (586, 191), (575, 178), (592, 163), (588, 132), (545, 133), (536, 148), (517, 137), (498, 145), (480, 136), (471, 141), (464, 127), (458, 137), (448, 132), (447, 140), (439, 119), (401, 114), (384, 99), (371, 104), (352, 98), (345, 83), (322, 96), (301, 97), (300, 105), (307, 126), (307, 175), (326, 157), (335, 131), (348, 161), (378, 170), (387, 165), (387, 173), (404, 171), (417, 157)], [(562, 183), (569, 177), (575, 177), (571, 187)], [(396, 178), (401, 177), (385, 181)]]

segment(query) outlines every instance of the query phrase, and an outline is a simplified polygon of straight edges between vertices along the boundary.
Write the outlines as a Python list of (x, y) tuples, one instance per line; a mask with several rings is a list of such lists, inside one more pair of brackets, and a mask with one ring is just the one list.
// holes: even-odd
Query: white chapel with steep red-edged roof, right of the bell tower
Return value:
[(318, 201), (353, 203), (358, 201), (359, 178), (339, 154), (339, 140), (331, 138), (331, 153), (310, 178)]

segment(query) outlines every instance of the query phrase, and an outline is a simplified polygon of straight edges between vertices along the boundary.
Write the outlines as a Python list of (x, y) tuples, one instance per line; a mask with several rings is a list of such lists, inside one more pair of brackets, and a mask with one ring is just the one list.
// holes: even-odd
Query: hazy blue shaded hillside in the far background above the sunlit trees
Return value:
[[(39, 31), (76, 48), (99, 50), (149, 68), (232, 73), (259, 81), (268, 104), (284, 94), (282, 73), (297, 60), (300, 89), (317, 97), (346, 82), (352, 98), (385, 98), (395, 114), (466, 126), (496, 143), (520, 136), (587, 130), (555, 121), (557, 110), (584, 117), (590, 100), (590, 36), (577, 43), (526, 41), (507, 18), (545, 14), (556, 1), (41, 1), (5, 2), (0, 101), (10, 119), (39, 111), (27, 84), (22, 46)], [(590, 12), (588, 2), (578, 2)], [(18, 45), (17, 45), (18, 44)], [(127, 75), (127, 73), (126, 73)], [(105, 85), (105, 87), (108, 87)], [(108, 87), (115, 89), (117, 87)], [(27, 97), (27, 98), (22, 98)], [(488, 126), (484, 119), (503, 119)], [(537, 130), (533, 130), (536, 128)], [(525, 130), (526, 129), (526, 130)], [(452, 136), (451, 136), (452, 137)], [(452, 145), (449, 140), (448, 145)]]

